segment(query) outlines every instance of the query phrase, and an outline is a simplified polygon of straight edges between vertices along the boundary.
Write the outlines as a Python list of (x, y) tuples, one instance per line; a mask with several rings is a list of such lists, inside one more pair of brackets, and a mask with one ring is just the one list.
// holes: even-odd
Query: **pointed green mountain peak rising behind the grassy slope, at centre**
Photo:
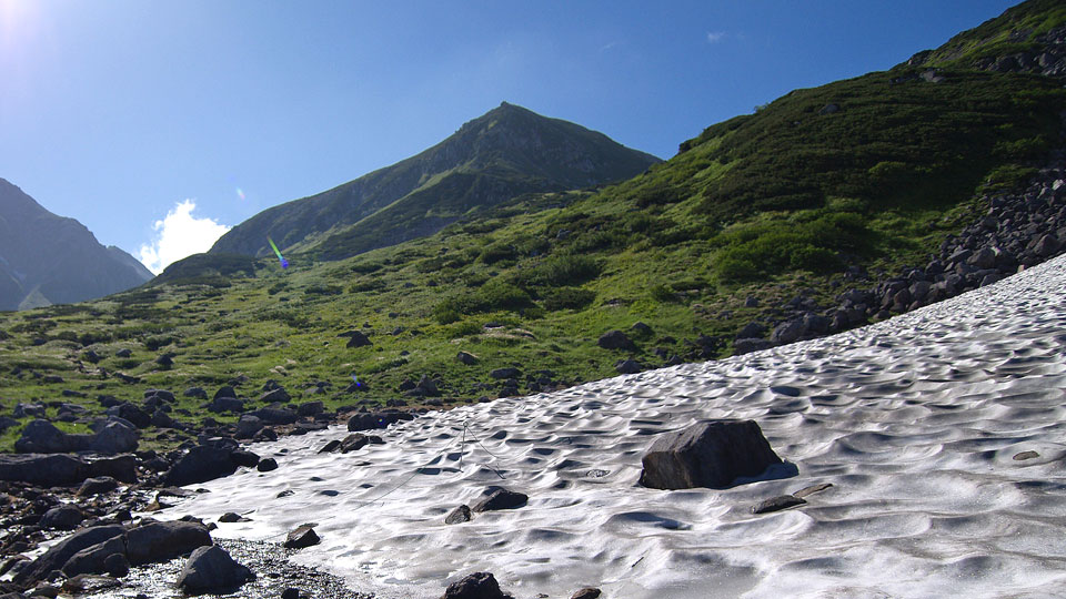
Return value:
[(265, 210), (211, 253), (283, 248), (336, 260), (430, 235), (529, 192), (630, 179), (661, 162), (602, 133), (502, 103), (429, 150), (326, 192)]

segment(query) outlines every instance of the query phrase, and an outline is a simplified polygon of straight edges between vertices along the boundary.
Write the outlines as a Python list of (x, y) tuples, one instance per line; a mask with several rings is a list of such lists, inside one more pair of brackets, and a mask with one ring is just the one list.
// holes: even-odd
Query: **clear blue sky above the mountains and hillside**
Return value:
[(158, 270), (501, 101), (667, 159), (1014, 3), (0, 0), (0, 177)]

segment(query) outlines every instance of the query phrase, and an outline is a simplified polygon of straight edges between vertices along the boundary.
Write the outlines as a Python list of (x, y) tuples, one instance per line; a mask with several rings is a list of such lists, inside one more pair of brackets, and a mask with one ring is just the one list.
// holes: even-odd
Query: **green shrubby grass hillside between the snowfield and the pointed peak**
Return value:
[[(987, 207), (980, 194), (1019, 185), (1060, 143), (1060, 81), (922, 72), (796, 90), (624, 183), (526, 194), (355, 257), (286, 253), (282, 271), (273, 258), (201, 255), (149, 287), (2, 314), (0, 412), (30, 400), (99, 412), (99, 395), (228, 383), (255, 397), (269, 379), (329, 407), (418, 404), (404, 390), (423, 376), (454, 403), (613, 376), (624, 358), (728, 355), (742, 326), (775, 324), (801, 293), (831, 305), (856, 284), (848, 266), (924, 264)], [(372, 345), (346, 347), (339, 335), (353, 329)], [(636, 348), (601, 348), (612, 329)], [(172, 365), (157, 362), (164, 355)], [(516, 388), (493, 377), (502, 367), (522, 372)], [(345, 390), (353, 374), (358, 396)], [(203, 415), (183, 402), (179, 418)]]

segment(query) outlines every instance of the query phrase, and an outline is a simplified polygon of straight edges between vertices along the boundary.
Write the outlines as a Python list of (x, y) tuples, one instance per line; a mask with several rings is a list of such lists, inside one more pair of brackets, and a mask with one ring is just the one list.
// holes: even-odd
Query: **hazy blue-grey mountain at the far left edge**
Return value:
[(137, 258), (0, 179), (0, 309), (92, 300), (150, 278)]

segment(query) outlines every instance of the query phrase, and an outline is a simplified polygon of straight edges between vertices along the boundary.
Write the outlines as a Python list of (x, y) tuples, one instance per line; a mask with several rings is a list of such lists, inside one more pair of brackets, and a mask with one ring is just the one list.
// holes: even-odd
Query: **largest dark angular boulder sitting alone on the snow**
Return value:
[(715, 419), (661, 435), (643, 458), (641, 485), (724, 489), (781, 464), (755, 420)]

